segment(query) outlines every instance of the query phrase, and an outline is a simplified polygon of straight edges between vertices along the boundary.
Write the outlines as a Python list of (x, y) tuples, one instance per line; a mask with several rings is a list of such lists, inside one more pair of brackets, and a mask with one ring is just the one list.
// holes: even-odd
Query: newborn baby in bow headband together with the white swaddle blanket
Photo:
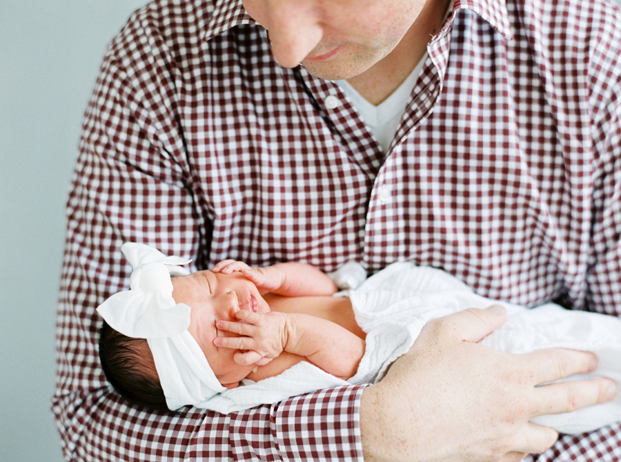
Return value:
[[(347, 379), (375, 382), (427, 321), (492, 303), (440, 270), (411, 263), (394, 263), (350, 297), (333, 297), (332, 279), (302, 263), (250, 268), (226, 260), (171, 279), (168, 272), (182, 272), (172, 265), (187, 261), (137, 244), (123, 251), (134, 267), (132, 290), (99, 308), (115, 329), (102, 328), (101, 362), (120, 394), (156, 408), (233, 412)], [(556, 305), (506, 307), (509, 321), (482, 343), (508, 352), (595, 350), (600, 371), (621, 378), (619, 319)], [(538, 423), (576, 433), (618, 419), (621, 403), (613, 402)]]

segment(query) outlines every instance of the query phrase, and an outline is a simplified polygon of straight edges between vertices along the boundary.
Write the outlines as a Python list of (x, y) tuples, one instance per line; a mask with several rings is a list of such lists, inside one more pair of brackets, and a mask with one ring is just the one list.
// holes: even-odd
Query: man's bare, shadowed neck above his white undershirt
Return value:
[(440, 30), (450, 0), (428, 0), (403, 39), (382, 61), (348, 83), (369, 103), (377, 106), (407, 79), (424, 57), (427, 43)]

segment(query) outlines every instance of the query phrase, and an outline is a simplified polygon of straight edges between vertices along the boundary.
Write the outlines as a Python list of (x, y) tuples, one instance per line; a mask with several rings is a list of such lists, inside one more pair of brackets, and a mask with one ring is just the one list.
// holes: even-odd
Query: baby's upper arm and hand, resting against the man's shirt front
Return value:
[(213, 272), (231, 274), (239, 271), (253, 281), (262, 293), (271, 292), (284, 297), (306, 295), (332, 295), (338, 288), (324, 272), (306, 263), (277, 263), (253, 268), (242, 261), (224, 260), (213, 268)]

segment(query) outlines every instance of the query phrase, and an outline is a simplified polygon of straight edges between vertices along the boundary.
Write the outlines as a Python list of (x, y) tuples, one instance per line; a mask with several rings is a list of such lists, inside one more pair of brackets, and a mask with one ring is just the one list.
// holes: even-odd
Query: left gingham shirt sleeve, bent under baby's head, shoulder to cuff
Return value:
[(108, 385), (95, 308), (128, 286), (121, 243), (155, 245), (193, 259), (193, 269), (208, 254), (209, 223), (197, 212), (171, 95), (165, 81), (128, 74), (110, 50), (86, 111), (67, 207), (52, 399), (66, 459), (362, 460), (361, 385), (230, 415), (138, 408)]

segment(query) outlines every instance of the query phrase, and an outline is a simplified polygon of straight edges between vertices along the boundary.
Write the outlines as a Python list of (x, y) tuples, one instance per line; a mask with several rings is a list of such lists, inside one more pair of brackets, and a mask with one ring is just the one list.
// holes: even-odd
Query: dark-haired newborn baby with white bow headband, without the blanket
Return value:
[[(197, 385), (199, 397), (236, 388), (242, 379), (276, 376), (304, 360), (342, 379), (355, 374), (365, 334), (349, 299), (332, 297), (337, 286), (317, 268), (250, 268), (226, 260), (188, 274), (178, 264), (189, 261), (146, 245), (126, 243), (121, 250), (134, 267), (131, 290), (98, 308), (106, 320), (99, 356), (108, 381), (126, 399), (158, 409), (199, 404), (192, 392), (175, 396), (188, 387), (175, 373)], [(255, 337), (239, 337), (249, 334)], [(201, 379), (191, 383), (201, 368)], [(217, 381), (206, 377), (212, 374)]]

